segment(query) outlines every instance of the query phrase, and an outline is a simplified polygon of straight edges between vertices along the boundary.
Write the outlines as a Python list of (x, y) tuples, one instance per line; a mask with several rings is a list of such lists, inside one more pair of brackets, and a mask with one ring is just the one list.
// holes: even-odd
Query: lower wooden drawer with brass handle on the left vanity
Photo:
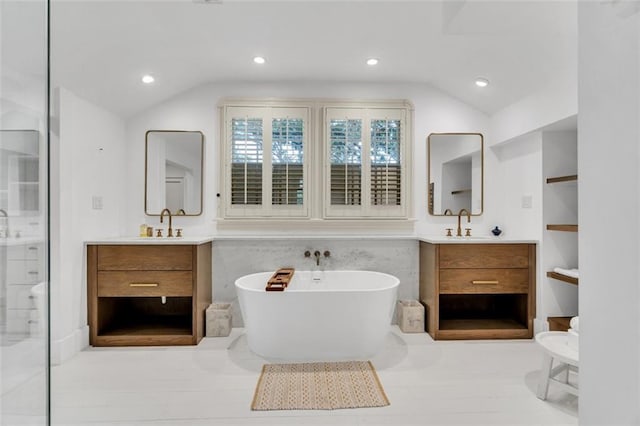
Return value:
[(98, 272), (98, 297), (191, 296), (191, 271)]

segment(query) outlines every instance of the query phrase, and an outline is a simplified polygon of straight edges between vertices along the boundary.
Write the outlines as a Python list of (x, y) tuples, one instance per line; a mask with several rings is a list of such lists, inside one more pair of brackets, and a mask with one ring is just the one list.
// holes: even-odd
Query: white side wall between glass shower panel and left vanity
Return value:
[[(73, 93), (54, 93), (51, 129), (51, 357), (88, 344), (84, 241), (121, 235), (127, 176), (122, 119)], [(92, 208), (92, 197), (103, 208)]]

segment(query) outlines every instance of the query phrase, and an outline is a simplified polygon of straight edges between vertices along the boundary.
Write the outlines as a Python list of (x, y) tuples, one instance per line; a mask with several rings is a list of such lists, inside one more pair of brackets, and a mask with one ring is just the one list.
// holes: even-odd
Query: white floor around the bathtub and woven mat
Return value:
[(250, 410), (262, 364), (242, 329), (198, 346), (89, 348), (52, 369), (53, 425), (576, 425), (578, 400), (535, 396), (533, 341), (434, 342), (392, 327), (372, 358), (388, 407)]

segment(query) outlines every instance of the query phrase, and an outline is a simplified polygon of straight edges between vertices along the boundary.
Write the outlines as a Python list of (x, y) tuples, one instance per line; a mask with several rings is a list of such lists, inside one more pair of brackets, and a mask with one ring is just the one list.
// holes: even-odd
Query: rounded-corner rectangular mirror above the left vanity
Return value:
[(202, 214), (202, 132), (149, 130), (145, 147), (145, 213)]

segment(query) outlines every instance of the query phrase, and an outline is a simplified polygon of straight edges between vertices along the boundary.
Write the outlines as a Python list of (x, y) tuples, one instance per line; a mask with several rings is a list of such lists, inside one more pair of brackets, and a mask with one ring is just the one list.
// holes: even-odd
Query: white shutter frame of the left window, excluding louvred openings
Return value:
[[(289, 104), (235, 105), (222, 108), (221, 192), (224, 218), (309, 218), (309, 141), (312, 132), (311, 109), (308, 106)], [(262, 204), (232, 204), (231, 197), (231, 125), (234, 118), (262, 119)], [(302, 205), (272, 204), (272, 120), (276, 118), (302, 119), (303, 121), (303, 193)]]

